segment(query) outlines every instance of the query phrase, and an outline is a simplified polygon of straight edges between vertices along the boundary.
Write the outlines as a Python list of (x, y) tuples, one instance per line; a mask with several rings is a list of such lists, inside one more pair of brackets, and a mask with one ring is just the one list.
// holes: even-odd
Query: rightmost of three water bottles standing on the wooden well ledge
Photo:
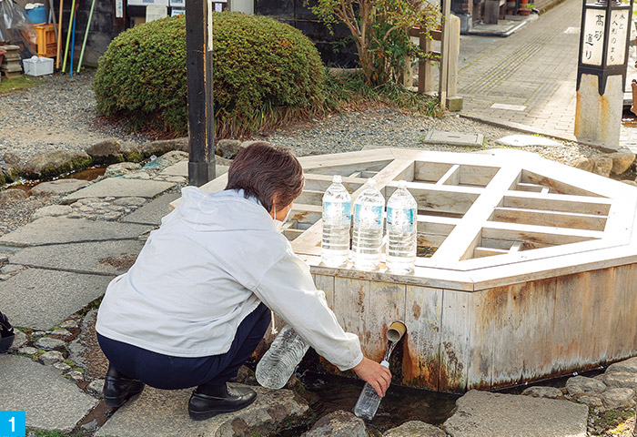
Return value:
[(394, 273), (406, 274), (416, 263), (418, 205), (407, 190), (407, 182), (387, 201), (387, 267)]

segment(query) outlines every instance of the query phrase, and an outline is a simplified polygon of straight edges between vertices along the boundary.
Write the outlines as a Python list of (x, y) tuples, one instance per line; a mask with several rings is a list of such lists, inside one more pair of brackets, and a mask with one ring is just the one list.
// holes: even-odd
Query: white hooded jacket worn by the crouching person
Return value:
[(108, 285), (96, 330), (165, 355), (218, 355), (260, 301), (341, 371), (362, 360), (358, 337), (339, 326), (258, 200), (187, 187), (135, 265)]

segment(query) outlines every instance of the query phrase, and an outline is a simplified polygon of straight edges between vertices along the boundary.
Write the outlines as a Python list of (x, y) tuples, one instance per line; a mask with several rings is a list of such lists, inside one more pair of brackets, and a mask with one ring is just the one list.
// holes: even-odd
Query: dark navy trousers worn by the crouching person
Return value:
[(221, 355), (184, 358), (147, 351), (97, 333), (99, 346), (111, 367), (157, 389), (176, 390), (196, 386), (219, 386), (237, 376), (257, 349), (270, 323), (270, 310), (260, 303), (241, 321), (230, 350)]

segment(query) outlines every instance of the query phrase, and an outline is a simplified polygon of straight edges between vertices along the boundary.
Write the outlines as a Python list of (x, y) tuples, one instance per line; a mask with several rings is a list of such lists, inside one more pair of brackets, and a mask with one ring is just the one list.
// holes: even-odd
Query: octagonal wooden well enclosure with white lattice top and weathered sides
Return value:
[[(510, 149), (300, 160), (306, 186), (284, 232), (367, 356), (380, 361), (387, 323), (405, 321), (397, 382), (491, 389), (637, 355), (637, 188)], [(369, 177), (386, 198), (408, 181), (427, 254), (413, 274), (321, 264), (321, 197), (334, 174), (354, 199)]]

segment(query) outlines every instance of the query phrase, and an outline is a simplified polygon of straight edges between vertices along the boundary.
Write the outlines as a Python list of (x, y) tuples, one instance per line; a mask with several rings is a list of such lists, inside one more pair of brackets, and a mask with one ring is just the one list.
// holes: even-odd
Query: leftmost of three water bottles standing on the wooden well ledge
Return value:
[(351, 196), (343, 187), (340, 175), (334, 175), (332, 185), (323, 195), (323, 239), (320, 253), (328, 267), (345, 264), (349, 256)]

